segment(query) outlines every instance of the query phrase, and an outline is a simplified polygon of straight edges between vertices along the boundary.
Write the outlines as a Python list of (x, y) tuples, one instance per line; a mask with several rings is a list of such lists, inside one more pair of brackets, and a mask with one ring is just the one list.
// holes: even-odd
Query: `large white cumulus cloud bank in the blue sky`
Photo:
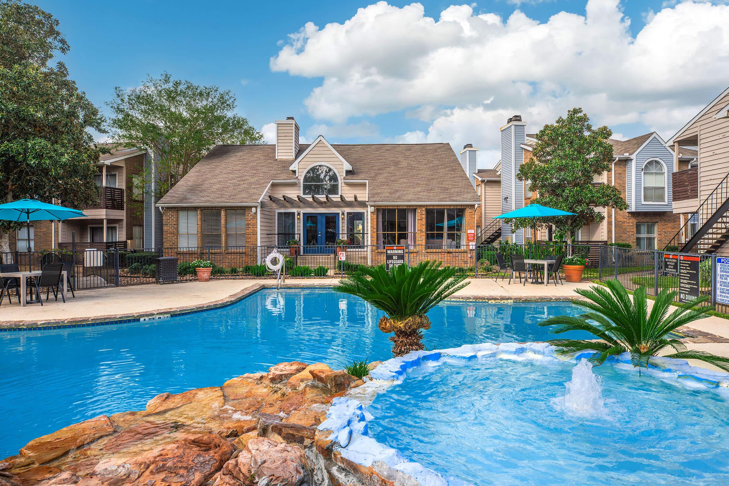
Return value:
[(647, 20), (631, 36), (619, 0), (589, 0), (585, 15), (543, 23), (518, 9), (502, 18), (454, 5), (436, 19), (421, 4), (380, 1), (343, 23), (307, 23), (270, 67), (321, 78), (304, 101), (315, 119), (346, 126), (406, 110), (430, 123), (403, 130), (403, 141), (495, 149), (512, 114), (536, 131), (573, 106), (596, 124), (644, 123), (670, 136), (727, 85), (729, 7), (685, 1)]

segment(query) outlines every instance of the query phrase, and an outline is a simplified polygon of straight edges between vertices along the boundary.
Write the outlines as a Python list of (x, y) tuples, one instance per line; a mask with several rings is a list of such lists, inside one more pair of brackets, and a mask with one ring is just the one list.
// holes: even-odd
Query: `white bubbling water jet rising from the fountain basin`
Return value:
[(551, 399), (556, 409), (590, 417), (605, 411), (600, 377), (593, 373), (593, 366), (587, 359), (580, 359), (572, 368), (572, 380), (565, 383), (564, 388), (564, 396)]

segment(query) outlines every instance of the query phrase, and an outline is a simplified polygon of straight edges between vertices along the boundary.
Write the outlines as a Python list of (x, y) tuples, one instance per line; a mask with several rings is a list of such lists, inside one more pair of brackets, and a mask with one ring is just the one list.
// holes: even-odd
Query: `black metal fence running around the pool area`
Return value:
[[(20, 270), (41, 270), (44, 261), (52, 253), (53, 258), (73, 262), (74, 289), (97, 289), (111, 286), (132, 286), (155, 283), (157, 258), (174, 256), (180, 281), (195, 280), (195, 260), (213, 264), (211, 278), (273, 278), (265, 266), (265, 258), (278, 251), (286, 260), (287, 278), (341, 278), (355, 273), (362, 267), (374, 267), (385, 262), (383, 246), (240, 246), (201, 248), (147, 248), (125, 250), (108, 249), (56, 249), (54, 251), (0, 253), (0, 263), (17, 264)], [(345, 258), (340, 260), (340, 251)], [(527, 258), (545, 259), (557, 255), (585, 257), (587, 265), (583, 279), (606, 280), (615, 278), (627, 289), (645, 286), (647, 294), (655, 296), (660, 289), (679, 291), (679, 275), (674, 268), (666, 268), (663, 251), (619, 248), (604, 245), (564, 245), (537, 243), (517, 245), (494, 243), (477, 246), (443, 248), (432, 245), (405, 245), (405, 262), (417, 264), (424, 260), (436, 260), (456, 267), (461, 274), (472, 278), (500, 278), (508, 276), (508, 270), (499, 270), (496, 254), (510, 260), (512, 254)], [(679, 255), (679, 254), (673, 254)], [(712, 297), (715, 258), (709, 254), (685, 254), (698, 257), (701, 295)], [(717, 304), (722, 311), (729, 306)]]

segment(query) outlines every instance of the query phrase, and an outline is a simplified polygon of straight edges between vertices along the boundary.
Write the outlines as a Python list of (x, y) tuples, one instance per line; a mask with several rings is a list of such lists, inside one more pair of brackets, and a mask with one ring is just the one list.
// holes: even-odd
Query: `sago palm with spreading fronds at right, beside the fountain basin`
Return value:
[(590, 312), (577, 317), (558, 315), (539, 323), (539, 326), (557, 326), (551, 331), (553, 334), (587, 331), (600, 339), (547, 341), (557, 346), (558, 353), (595, 350), (588, 360), (593, 365), (600, 365), (609, 356), (628, 352), (631, 353), (633, 366), (640, 372), (641, 367), (648, 367), (648, 360), (652, 356), (658, 355), (665, 348), (672, 348), (676, 352), (666, 355), (668, 358), (698, 359), (729, 372), (729, 358), (687, 350), (683, 342), (670, 336), (680, 326), (706, 317), (709, 309), (698, 307), (706, 301), (706, 297), (680, 304), (668, 314), (678, 292), (663, 289), (655, 297), (653, 307), (648, 313), (644, 286), (636, 289), (631, 299), (619, 281), (610, 279), (605, 283), (607, 289), (593, 286), (590, 289), (575, 290), (577, 294), (589, 299), (580, 302), (580, 305), (587, 307)]

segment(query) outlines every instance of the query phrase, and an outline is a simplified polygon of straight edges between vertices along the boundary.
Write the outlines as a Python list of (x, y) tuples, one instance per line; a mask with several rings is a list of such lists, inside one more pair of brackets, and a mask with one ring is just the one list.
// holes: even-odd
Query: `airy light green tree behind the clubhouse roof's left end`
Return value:
[[(141, 86), (114, 89), (106, 103), (114, 141), (139, 146), (159, 157), (157, 196), (162, 196), (217, 144), (260, 144), (263, 136), (235, 114), (235, 96), (217, 86), (200, 86), (163, 73)], [(152, 174), (146, 171), (143, 183)]]

